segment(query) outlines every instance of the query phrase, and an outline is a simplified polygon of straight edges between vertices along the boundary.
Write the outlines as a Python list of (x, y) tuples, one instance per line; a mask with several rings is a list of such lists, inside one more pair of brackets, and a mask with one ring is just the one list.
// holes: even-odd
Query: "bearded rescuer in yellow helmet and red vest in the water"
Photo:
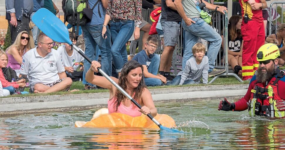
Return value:
[(250, 116), (283, 118), (285, 116), (285, 73), (277, 68), (280, 52), (275, 44), (264, 44), (257, 51), (259, 68), (252, 77), (247, 93), (235, 103), (220, 101), (218, 110), (244, 111)]

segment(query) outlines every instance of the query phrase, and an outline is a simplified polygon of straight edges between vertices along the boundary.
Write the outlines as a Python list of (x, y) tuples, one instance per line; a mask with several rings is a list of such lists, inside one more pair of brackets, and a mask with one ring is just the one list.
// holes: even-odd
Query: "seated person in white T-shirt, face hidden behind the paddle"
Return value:
[[(70, 40), (71, 40), (72, 34), (73, 34), (73, 37), (75, 37), (74, 33), (69, 33)], [(73, 39), (72, 42), (73, 44), (75, 44), (76, 40)], [(80, 50), (82, 51), (82, 49)], [(83, 66), (80, 67), (79, 69), (80, 71), (77, 71), (77, 68), (78, 66), (80, 66), (80, 63), (84, 61), (84, 58), (77, 51), (71, 50), (71, 46), (67, 43), (63, 43), (62, 46), (59, 46), (57, 51), (60, 53), (60, 56), (62, 57), (66, 76), (70, 77), (72, 81), (79, 81), (80, 79), (82, 79)]]

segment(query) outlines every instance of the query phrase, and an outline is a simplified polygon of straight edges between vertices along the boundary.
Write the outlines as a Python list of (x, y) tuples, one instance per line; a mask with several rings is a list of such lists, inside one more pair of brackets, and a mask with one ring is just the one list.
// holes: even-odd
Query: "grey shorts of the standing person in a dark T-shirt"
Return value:
[(160, 23), (163, 31), (164, 46), (175, 46), (180, 34), (179, 22), (160, 21)]

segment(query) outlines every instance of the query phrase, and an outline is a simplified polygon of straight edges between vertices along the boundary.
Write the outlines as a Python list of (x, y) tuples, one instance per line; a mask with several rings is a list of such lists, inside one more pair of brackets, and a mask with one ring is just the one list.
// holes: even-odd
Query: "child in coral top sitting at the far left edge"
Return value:
[(15, 89), (26, 86), (26, 80), (21, 79), (16, 82), (8, 82), (5, 79), (4, 74), (2, 72), (2, 68), (6, 67), (7, 63), (8, 63), (8, 56), (5, 53), (5, 51), (1, 51), (0, 52), (0, 81), (1, 81), (3, 89), (9, 90), (10, 94), (14, 94)]

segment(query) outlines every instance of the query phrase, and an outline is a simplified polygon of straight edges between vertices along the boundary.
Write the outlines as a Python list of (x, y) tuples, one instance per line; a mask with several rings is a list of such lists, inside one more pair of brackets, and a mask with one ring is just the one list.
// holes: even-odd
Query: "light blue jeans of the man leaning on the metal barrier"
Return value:
[(209, 24), (207, 24), (202, 18), (191, 18), (196, 23), (192, 23), (187, 26), (182, 21), (182, 26), (185, 29), (185, 50), (183, 54), (182, 69), (185, 68), (186, 62), (193, 56), (192, 47), (197, 43), (198, 38), (207, 40), (210, 42), (210, 46), (207, 52), (209, 57), (209, 72), (215, 67), (215, 60), (217, 59), (217, 54), (221, 48), (222, 38), (220, 34), (217, 33)]

